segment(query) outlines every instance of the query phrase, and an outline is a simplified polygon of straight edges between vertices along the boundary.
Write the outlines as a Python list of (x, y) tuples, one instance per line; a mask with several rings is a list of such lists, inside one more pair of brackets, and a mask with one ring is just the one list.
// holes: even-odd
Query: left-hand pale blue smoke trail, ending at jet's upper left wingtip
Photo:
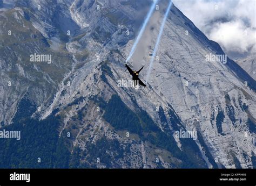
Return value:
[(149, 11), (149, 13), (147, 13), (146, 19), (145, 19), (145, 21), (144, 21), (144, 23), (142, 25), (142, 28), (139, 31), (138, 37), (136, 38), (136, 40), (135, 40), (135, 42), (134, 42), (134, 44), (132, 46), (131, 52), (130, 52), (128, 58), (126, 59), (125, 63), (127, 63), (127, 61), (129, 61), (131, 56), (133, 55), (133, 53), (134, 53), (134, 51), (135, 51), (135, 49), (137, 47), (137, 44), (138, 44), (140, 38), (142, 37), (142, 34), (143, 34), (143, 32), (144, 32), (144, 30), (146, 28), (147, 22), (149, 22), (149, 19), (150, 19), (151, 15), (152, 15), (152, 13), (154, 11), (154, 8), (156, 7), (157, 2), (158, 2), (158, 0), (154, 0), (153, 4), (151, 5), (150, 11)]

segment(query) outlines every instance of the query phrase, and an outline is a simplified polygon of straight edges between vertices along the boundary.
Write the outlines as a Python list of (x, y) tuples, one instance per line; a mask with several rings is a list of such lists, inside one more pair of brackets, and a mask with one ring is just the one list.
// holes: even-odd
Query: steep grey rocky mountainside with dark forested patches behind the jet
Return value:
[[(142, 80), (165, 4), (159, 4), (151, 18), (155, 24), (146, 28), (150, 37), (140, 44)], [(32, 116), (24, 133), (28, 123), (55, 124), (56, 147), (49, 149), (57, 149), (56, 163), (42, 167), (59, 167), (60, 159), (67, 167), (255, 166), (255, 81), (228, 58), (206, 61), (206, 55), (224, 52), (174, 5), (146, 89), (118, 85), (131, 78), (125, 58), (149, 6), (146, 1), (18, 1), (15, 9), (0, 9), (0, 119), (4, 128)], [(31, 62), (34, 53), (49, 54), (52, 62)], [(33, 106), (24, 106), (28, 102)], [(37, 135), (34, 131), (26, 134)], [(197, 136), (177, 138), (177, 131)]]

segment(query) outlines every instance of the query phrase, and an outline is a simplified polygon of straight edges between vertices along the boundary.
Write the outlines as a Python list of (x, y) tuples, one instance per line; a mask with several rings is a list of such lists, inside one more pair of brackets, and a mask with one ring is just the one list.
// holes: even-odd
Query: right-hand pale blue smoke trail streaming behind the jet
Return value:
[(157, 37), (156, 46), (154, 47), (154, 51), (153, 51), (153, 54), (152, 54), (151, 59), (150, 59), (150, 66), (149, 66), (149, 70), (147, 71), (146, 83), (147, 83), (147, 80), (149, 80), (149, 76), (150, 76), (150, 73), (151, 73), (151, 70), (152, 70), (153, 61), (154, 61), (154, 58), (155, 58), (156, 53), (157, 53), (157, 49), (158, 49), (158, 45), (159, 45), (159, 42), (160, 42), (160, 39), (161, 39), (161, 35), (164, 31), (165, 21), (167, 19), (167, 16), (169, 14), (171, 6), (172, 6), (172, 1), (170, 1), (169, 5), (168, 5), (168, 8), (165, 12), (163, 22), (161, 23), (160, 32), (159, 32), (158, 37)]

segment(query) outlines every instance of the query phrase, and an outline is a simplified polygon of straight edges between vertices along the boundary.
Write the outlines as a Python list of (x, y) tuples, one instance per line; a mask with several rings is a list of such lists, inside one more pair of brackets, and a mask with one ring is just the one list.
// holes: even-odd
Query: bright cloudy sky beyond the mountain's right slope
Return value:
[(256, 0), (173, 0), (231, 58), (256, 52)]

